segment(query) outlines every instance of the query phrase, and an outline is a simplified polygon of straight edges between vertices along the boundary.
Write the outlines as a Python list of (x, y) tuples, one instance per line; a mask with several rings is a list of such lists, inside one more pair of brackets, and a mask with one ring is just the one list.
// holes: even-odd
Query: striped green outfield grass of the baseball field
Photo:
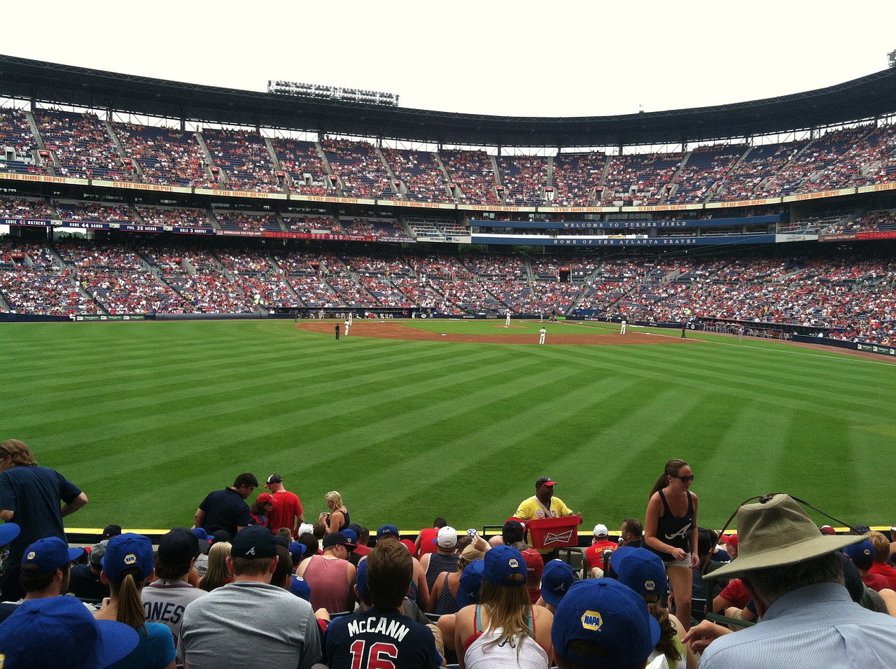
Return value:
[[(618, 330), (548, 331), (604, 328)], [(408, 529), (500, 523), (547, 475), (582, 528), (615, 528), (643, 516), (670, 458), (691, 463), (709, 527), (770, 492), (896, 521), (896, 365), (689, 336), (538, 347), (334, 341), (291, 320), (5, 324), (0, 438), (88, 494), (71, 527), (190, 525), (206, 493), (252, 471), (282, 475), (306, 518), (338, 490), (352, 519)]]

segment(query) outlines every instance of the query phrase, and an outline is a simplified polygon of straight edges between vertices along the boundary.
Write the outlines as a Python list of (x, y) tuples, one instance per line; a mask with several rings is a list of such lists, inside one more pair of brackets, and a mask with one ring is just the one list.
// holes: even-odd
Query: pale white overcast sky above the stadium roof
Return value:
[(887, 67), (896, 0), (5, 3), (0, 53), (189, 83), (269, 79), (402, 107), (612, 116), (812, 90)]

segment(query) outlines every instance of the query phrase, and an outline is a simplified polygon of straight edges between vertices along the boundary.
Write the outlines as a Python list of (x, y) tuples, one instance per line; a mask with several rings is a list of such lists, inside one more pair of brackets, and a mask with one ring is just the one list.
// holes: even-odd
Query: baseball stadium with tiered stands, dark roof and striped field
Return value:
[(896, 521), (896, 68), (626, 116), (354, 93), (0, 56), (4, 438), (87, 493), (71, 536), (242, 472), (488, 534), (549, 476), (587, 545), (670, 459), (704, 527)]

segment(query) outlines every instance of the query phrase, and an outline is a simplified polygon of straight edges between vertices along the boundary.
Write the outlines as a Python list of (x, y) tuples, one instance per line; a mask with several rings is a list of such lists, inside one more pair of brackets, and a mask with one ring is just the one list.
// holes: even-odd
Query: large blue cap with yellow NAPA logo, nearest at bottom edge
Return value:
[[(606, 656), (580, 656), (569, 650), (576, 639), (591, 641)], [(573, 583), (557, 605), (551, 624), (551, 644), (557, 657), (595, 669), (624, 669), (639, 665), (659, 641), (659, 622), (632, 588), (614, 579)]]

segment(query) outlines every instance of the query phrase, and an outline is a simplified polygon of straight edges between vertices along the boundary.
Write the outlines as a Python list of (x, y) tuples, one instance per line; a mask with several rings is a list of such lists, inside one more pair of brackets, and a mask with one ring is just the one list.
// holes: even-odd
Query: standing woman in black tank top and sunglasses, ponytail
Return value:
[(692, 571), (697, 557), (697, 495), (689, 488), (694, 481), (685, 460), (669, 460), (650, 490), (644, 518), (644, 545), (666, 563), (666, 575), (675, 613), (685, 629), (691, 627)]

